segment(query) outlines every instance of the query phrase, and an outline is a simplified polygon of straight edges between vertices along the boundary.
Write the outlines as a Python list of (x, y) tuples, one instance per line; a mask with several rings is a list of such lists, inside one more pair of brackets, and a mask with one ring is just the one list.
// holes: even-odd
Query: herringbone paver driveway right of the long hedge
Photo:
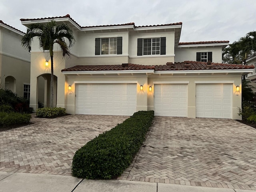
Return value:
[(228, 119), (155, 117), (119, 179), (255, 190), (256, 129)]

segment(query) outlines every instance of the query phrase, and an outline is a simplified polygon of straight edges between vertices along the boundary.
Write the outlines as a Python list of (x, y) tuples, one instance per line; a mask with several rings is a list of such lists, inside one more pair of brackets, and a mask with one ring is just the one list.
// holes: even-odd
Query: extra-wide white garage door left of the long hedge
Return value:
[(132, 115), (136, 84), (77, 84), (76, 114)]

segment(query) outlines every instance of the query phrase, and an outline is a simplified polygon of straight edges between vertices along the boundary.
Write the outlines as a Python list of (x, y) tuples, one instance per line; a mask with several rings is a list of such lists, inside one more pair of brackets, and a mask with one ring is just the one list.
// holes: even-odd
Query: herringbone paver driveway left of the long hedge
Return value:
[(32, 124), (0, 131), (0, 171), (70, 175), (76, 150), (128, 116), (69, 115), (32, 118)]

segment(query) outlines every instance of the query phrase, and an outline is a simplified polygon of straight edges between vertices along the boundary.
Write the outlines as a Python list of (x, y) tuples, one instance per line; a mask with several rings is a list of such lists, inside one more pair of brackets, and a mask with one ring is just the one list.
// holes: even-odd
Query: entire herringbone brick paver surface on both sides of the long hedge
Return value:
[[(126, 118), (33, 117), (0, 131), (0, 171), (71, 175), (76, 150)], [(227, 119), (155, 117), (118, 179), (256, 190), (256, 129)]]

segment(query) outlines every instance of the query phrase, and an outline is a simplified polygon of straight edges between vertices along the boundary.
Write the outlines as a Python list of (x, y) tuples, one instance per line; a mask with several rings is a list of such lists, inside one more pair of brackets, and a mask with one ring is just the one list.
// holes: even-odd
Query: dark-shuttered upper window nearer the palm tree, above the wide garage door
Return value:
[(95, 38), (95, 55), (122, 54), (122, 37)]

